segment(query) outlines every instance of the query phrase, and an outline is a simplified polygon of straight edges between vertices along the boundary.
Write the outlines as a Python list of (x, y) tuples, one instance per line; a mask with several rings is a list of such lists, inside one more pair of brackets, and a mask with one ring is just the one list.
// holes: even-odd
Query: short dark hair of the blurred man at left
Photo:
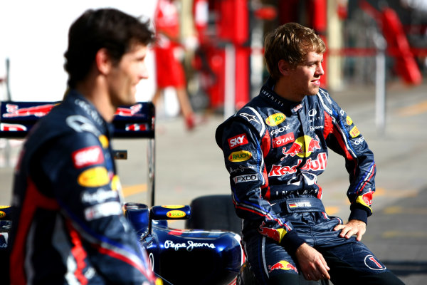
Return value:
[(118, 63), (133, 44), (148, 46), (153, 41), (148, 21), (141, 22), (117, 9), (85, 11), (68, 32), (68, 50), (64, 55), (68, 87), (74, 88), (88, 75), (101, 48), (106, 48), (112, 61)]

